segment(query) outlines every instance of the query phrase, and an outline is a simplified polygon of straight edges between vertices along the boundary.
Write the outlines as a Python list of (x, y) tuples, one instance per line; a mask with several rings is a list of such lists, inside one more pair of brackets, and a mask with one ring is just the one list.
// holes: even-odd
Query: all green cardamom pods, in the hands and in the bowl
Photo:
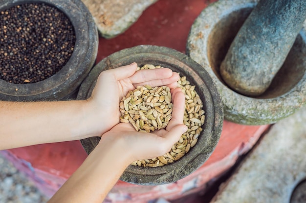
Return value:
[[(146, 64), (137, 70), (162, 68)], [(196, 86), (191, 86), (186, 76), (180, 77), (178, 87), (185, 94), (184, 124), (188, 127), (187, 132), (182, 134), (171, 150), (153, 159), (136, 160), (133, 166), (165, 166), (182, 158), (197, 144), (198, 136), (203, 130), (201, 127), (205, 121), (203, 102), (195, 91)], [(171, 117), (173, 104), (170, 88), (144, 86), (137, 87), (122, 98), (119, 107), (121, 112), (120, 121), (131, 123), (138, 131), (151, 132), (155, 129), (167, 127)]]

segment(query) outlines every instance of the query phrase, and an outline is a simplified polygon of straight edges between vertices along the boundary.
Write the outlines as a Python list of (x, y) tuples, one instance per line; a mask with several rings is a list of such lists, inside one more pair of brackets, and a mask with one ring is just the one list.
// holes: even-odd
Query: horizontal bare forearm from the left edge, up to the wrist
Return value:
[[(0, 101), (0, 149), (78, 140), (94, 135), (87, 101)], [(97, 136), (97, 135), (96, 135)]]

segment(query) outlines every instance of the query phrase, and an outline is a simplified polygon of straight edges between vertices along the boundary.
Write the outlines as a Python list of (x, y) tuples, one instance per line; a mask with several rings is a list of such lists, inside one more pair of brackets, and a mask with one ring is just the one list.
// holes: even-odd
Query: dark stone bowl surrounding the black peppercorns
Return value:
[(93, 67), (98, 52), (98, 31), (91, 14), (81, 0), (2, 0), (0, 11), (23, 3), (45, 3), (66, 14), (75, 31), (74, 51), (58, 73), (43, 81), (14, 84), (0, 80), (0, 100), (60, 100), (73, 96), (75, 98), (80, 84)]

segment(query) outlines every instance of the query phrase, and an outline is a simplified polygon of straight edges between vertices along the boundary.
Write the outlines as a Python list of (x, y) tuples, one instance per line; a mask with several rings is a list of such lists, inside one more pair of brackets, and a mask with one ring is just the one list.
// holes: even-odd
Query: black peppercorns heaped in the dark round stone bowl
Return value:
[(25, 3), (0, 11), (0, 79), (25, 84), (56, 74), (75, 40), (70, 20), (55, 7)]

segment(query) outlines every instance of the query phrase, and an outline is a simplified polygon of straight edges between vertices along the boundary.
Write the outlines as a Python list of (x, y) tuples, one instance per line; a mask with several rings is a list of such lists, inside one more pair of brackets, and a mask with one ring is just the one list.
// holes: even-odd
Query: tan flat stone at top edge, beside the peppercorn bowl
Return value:
[(126, 31), (157, 0), (82, 0), (91, 12), (99, 34), (116, 37)]

